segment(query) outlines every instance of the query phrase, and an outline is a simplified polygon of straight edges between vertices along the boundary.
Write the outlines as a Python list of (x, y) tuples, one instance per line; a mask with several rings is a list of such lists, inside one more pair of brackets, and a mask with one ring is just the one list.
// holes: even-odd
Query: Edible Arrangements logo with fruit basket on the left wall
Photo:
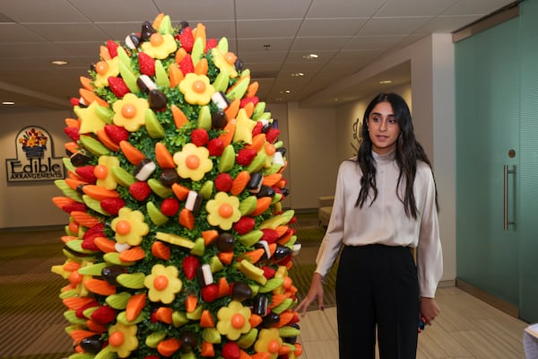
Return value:
[(65, 178), (62, 157), (54, 157), (53, 141), (37, 126), (24, 127), (15, 137), (17, 157), (5, 160), (8, 182), (59, 180)]

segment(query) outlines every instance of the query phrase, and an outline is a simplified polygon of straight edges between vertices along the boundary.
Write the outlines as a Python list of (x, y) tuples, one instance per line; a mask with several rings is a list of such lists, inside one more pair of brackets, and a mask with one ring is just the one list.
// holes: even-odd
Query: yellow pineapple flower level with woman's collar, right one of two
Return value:
[(213, 169), (207, 148), (195, 144), (185, 144), (181, 151), (174, 153), (174, 162), (182, 179), (202, 180), (205, 173)]

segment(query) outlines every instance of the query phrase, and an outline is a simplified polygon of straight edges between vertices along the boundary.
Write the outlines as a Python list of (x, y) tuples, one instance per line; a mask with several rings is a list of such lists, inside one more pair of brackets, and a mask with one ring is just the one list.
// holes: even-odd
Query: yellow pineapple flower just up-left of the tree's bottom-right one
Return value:
[(241, 302), (231, 301), (228, 307), (221, 307), (217, 318), (217, 330), (230, 340), (237, 340), (241, 334), (250, 331), (250, 309), (244, 307)]

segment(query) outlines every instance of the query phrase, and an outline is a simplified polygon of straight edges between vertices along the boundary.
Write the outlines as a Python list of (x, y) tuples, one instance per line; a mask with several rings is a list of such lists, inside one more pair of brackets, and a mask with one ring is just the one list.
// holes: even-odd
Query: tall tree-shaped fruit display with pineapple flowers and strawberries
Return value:
[(52, 198), (70, 359), (301, 355), (286, 151), (257, 88), (201, 23), (103, 42)]

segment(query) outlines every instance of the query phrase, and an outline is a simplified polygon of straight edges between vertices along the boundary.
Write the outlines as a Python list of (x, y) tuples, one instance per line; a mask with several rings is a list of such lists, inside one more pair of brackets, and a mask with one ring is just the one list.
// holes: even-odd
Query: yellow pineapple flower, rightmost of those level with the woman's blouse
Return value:
[(228, 196), (226, 192), (219, 192), (205, 205), (207, 209), (207, 222), (214, 226), (221, 227), (222, 230), (230, 230), (233, 223), (239, 221), (241, 212), (239, 211), (239, 198)]

